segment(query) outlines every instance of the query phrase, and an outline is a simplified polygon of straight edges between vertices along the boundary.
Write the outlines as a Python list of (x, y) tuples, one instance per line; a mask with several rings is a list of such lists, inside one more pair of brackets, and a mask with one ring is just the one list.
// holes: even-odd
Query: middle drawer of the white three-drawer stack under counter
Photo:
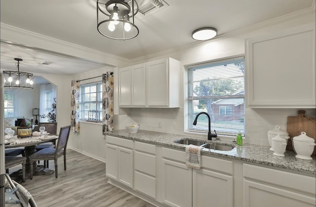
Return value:
[(156, 156), (143, 152), (134, 152), (135, 170), (156, 176)]

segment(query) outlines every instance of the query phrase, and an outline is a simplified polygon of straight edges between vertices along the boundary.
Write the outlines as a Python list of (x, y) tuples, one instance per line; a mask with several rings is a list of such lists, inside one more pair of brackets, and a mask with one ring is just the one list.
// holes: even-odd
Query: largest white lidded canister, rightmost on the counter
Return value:
[(297, 154), (295, 157), (303, 160), (312, 160), (311, 155), (315, 145), (314, 138), (310, 138), (305, 132), (301, 132), (301, 135), (293, 138), (293, 148)]

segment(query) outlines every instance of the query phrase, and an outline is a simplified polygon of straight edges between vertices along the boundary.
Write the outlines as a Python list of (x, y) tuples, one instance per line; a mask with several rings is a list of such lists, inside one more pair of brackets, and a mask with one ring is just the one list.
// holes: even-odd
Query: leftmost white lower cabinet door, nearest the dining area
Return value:
[(107, 164), (106, 176), (118, 180), (118, 147), (112, 144), (106, 144), (107, 148)]

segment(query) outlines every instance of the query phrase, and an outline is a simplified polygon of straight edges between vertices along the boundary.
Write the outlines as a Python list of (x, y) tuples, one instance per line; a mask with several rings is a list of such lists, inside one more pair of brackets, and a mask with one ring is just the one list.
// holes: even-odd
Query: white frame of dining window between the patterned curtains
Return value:
[[(90, 93), (84, 93), (84, 89), (87, 87), (91, 87), (91, 86), (96, 86), (96, 91), (95, 92), (90, 92)], [(102, 81), (98, 81), (98, 82), (93, 82), (93, 83), (86, 83), (86, 84), (82, 84), (80, 85), (80, 94), (79, 94), (79, 120), (84, 120), (84, 121), (88, 121), (88, 118), (85, 118), (85, 112), (88, 113), (89, 110), (93, 110), (91, 108), (89, 108), (88, 110), (84, 110), (84, 105), (85, 104), (94, 104), (96, 105), (95, 110), (100, 111), (100, 121), (102, 121)], [(85, 94), (92, 94), (92, 93), (96, 93), (96, 98), (95, 101), (85, 101), (84, 100), (84, 95)]]

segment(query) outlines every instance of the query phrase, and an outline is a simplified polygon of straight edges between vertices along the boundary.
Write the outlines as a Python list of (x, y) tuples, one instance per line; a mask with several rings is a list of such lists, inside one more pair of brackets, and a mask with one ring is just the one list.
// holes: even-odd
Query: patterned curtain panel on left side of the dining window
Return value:
[(77, 80), (71, 81), (71, 130), (79, 132), (79, 89), (80, 83)]

